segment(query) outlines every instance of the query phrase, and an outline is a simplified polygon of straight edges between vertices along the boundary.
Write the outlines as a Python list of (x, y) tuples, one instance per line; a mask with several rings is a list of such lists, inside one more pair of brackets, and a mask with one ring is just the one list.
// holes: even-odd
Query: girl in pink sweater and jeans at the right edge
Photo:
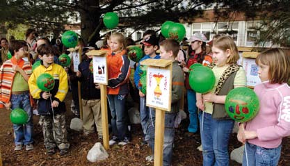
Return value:
[[(282, 138), (290, 135), (290, 57), (281, 49), (269, 49), (256, 58), (261, 82), (254, 91), (259, 97), (257, 116), (241, 124), (237, 135), (245, 143), (243, 165), (278, 165)], [(245, 126), (245, 129), (243, 129)]]

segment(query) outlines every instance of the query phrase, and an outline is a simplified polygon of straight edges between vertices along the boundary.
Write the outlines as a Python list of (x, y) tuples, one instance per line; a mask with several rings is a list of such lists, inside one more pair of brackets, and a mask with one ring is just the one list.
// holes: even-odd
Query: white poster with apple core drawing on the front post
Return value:
[(147, 68), (146, 104), (154, 108), (170, 111), (171, 92), (170, 69)]

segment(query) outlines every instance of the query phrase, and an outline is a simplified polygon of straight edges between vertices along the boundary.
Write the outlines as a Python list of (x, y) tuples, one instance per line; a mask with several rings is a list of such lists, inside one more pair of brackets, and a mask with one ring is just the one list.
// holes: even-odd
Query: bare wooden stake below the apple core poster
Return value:
[(155, 113), (154, 166), (160, 166), (163, 165), (165, 111), (156, 109)]

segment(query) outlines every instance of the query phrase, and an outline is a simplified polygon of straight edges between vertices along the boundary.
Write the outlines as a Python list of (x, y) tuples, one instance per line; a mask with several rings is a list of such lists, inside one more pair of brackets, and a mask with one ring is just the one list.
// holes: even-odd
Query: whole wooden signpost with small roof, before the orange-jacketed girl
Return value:
[(92, 55), (92, 67), (94, 74), (94, 83), (99, 83), (101, 90), (101, 110), (102, 110), (102, 128), (103, 128), (103, 144), (108, 150), (108, 109), (106, 99), (106, 85), (108, 85), (108, 67), (106, 64), (106, 51), (92, 50), (86, 53)]

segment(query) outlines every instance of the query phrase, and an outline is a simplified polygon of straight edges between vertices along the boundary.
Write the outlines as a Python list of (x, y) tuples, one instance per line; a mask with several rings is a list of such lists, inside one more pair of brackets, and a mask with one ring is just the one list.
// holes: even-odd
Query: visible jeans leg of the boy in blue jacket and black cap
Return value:
[(146, 135), (148, 119), (149, 119), (149, 107), (146, 106), (146, 97), (140, 97), (140, 123), (144, 135)]

